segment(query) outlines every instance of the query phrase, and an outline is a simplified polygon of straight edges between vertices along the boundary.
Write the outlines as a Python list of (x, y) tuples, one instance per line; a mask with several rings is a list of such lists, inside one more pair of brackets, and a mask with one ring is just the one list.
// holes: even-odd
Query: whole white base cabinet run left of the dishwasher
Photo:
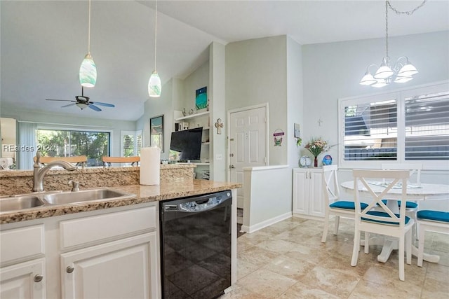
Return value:
[(0, 225), (0, 298), (160, 298), (158, 225), (158, 202)]

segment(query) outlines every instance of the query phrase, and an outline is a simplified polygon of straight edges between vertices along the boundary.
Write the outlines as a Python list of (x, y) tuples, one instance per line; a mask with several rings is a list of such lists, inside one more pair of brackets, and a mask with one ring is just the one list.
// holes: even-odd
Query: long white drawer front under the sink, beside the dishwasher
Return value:
[(60, 222), (61, 249), (156, 229), (156, 207)]

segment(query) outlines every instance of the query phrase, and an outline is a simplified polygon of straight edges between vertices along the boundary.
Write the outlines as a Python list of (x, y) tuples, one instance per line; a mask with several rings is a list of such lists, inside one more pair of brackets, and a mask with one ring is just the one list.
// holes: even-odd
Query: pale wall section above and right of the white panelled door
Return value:
[[(287, 163), (288, 139), (274, 146), (273, 133), (287, 134), (286, 36), (226, 45), (226, 110), (269, 103), (269, 165)], [(287, 139), (287, 140), (286, 140)]]

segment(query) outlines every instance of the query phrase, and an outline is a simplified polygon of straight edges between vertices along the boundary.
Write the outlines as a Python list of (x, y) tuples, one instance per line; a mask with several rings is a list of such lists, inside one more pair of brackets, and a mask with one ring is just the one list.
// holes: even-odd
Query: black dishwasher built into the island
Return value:
[(160, 202), (163, 298), (216, 298), (231, 286), (230, 190)]

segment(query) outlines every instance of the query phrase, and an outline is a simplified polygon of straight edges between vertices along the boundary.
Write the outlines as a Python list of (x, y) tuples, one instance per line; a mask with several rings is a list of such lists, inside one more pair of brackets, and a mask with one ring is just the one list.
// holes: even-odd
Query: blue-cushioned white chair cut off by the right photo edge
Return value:
[(418, 242), (418, 266), (422, 267), (424, 256), (425, 232), (441, 232), (449, 234), (449, 211), (421, 210), (417, 212), (417, 222), (420, 229), (420, 241)]

